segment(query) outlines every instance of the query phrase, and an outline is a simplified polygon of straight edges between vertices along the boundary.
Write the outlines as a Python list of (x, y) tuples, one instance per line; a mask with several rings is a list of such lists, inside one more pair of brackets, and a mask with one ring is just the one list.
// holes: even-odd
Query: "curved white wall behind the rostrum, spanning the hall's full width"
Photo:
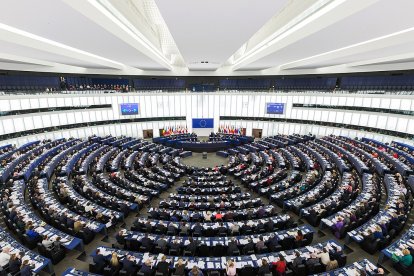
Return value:
[[(266, 114), (266, 103), (271, 102), (284, 103), (285, 113), (283, 115)], [(138, 103), (139, 114), (121, 115), (121, 103)], [(294, 103), (324, 105), (325, 108), (293, 107)], [(413, 112), (414, 97), (404, 95), (216, 92), (0, 97), (1, 112), (105, 104), (111, 106), (47, 112), (42, 110), (42, 112), (0, 116), (0, 135), (47, 128), (48, 133), (10, 139), (13, 143), (21, 143), (34, 138), (85, 137), (92, 134), (142, 137), (142, 130), (152, 129), (156, 137), (159, 135), (159, 129), (164, 126), (187, 125), (191, 131), (192, 118), (214, 118), (215, 130), (224, 124), (246, 127), (248, 135), (252, 134), (253, 128), (262, 129), (263, 136), (277, 133), (306, 134), (311, 132), (316, 135), (337, 134), (351, 137), (365, 136), (381, 141), (407, 141), (404, 137), (393, 138), (392, 135), (378, 134), (377, 131), (388, 130), (414, 135), (414, 116), (412, 115), (372, 112), (372, 109), (366, 109), (370, 111), (355, 110), (355, 107), (361, 107), (361, 109), (368, 107), (376, 108), (378, 111), (387, 109)], [(326, 108), (326, 106), (341, 106), (344, 109)], [(346, 110), (346, 106), (352, 107), (352, 110)], [(171, 120), (172, 117), (175, 119)], [(131, 122), (131, 119), (138, 122)], [(302, 121), (306, 123), (302, 124)], [(313, 121), (318, 123), (312, 124)], [(109, 124), (81, 125), (79, 128), (75, 125), (93, 124), (94, 122)], [(70, 129), (65, 129), (68, 125)], [(347, 129), (346, 125), (352, 125), (354, 129)], [(52, 127), (59, 126), (62, 129), (52, 129)], [(355, 126), (372, 129), (369, 132), (360, 131), (355, 129)]]

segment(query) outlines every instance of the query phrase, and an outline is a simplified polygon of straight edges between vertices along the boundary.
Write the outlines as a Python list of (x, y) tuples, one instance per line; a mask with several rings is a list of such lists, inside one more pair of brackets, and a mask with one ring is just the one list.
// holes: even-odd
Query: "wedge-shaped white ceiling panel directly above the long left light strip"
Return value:
[(0, 2), (0, 7), (0, 23), (132, 67), (160, 68), (155, 61), (123, 43), (61, 0), (5, 0)]

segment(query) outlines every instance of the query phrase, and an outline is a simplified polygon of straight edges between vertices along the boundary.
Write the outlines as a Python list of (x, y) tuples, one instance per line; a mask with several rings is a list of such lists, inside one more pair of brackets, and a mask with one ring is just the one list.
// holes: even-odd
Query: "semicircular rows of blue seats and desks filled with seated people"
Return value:
[(108, 240), (112, 247), (88, 252), (90, 272), (104, 275), (142, 275), (146, 261), (155, 272), (160, 254), (171, 273), (180, 257), (187, 270), (196, 265), (209, 275), (230, 259), (240, 275), (256, 275), (262, 263), (273, 269), (282, 257), (286, 275), (331, 266), (339, 268), (329, 275), (375, 272), (372, 258), (347, 264), (343, 243), (368, 254), (382, 250), (380, 262), (414, 250), (412, 231), (404, 230), (414, 156), (404, 147), (276, 135), (225, 153), (227, 164), (197, 168), (177, 149), (125, 136), (1, 146), (1, 209), (10, 231), (0, 229), (1, 244), (21, 248), (38, 273), (52, 271), (50, 263), (59, 265), (70, 250)]

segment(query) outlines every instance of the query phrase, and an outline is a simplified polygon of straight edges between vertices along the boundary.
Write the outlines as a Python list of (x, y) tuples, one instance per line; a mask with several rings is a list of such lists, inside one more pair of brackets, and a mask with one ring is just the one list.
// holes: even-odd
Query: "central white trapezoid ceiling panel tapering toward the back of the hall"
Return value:
[(189, 68), (224, 63), (287, 0), (156, 0)]

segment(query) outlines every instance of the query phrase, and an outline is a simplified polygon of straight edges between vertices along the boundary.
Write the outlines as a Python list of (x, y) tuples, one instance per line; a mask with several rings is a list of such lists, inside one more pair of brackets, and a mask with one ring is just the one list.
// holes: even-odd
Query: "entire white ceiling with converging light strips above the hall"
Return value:
[(243, 76), (414, 69), (412, 0), (3, 0), (0, 70)]

